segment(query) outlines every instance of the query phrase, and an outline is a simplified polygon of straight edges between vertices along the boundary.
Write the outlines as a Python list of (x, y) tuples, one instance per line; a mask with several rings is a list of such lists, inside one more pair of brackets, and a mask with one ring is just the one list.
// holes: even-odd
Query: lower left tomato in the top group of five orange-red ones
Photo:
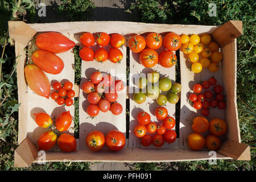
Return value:
[(139, 61), (146, 68), (152, 68), (158, 64), (158, 53), (154, 49), (146, 48), (139, 55)]

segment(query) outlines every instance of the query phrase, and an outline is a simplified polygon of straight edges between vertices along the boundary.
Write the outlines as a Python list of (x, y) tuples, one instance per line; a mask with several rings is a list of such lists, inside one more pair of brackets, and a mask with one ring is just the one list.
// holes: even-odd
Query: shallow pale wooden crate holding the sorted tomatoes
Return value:
[[(83, 110), (85, 97), (82, 92), (79, 92), (79, 86), (76, 86), (76, 95), (79, 97), (79, 117), (80, 117), (80, 134), (77, 139), (77, 152), (61, 152), (61, 151), (47, 151), (47, 162), (60, 162), (60, 161), (73, 161), (73, 162), (175, 162), (187, 160), (205, 160), (211, 159), (209, 150), (192, 151), (187, 147), (186, 138), (192, 133), (189, 119), (195, 117), (196, 110), (194, 110), (187, 103), (187, 93), (191, 88), (193, 82), (202, 81), (209, 77), (216, 77), (218, 84), (224, 87), (224, 95), (226, 96), (226, 109), (223, 112), (219, 110), (211, 111), (209, 119), (213, 117), (223, 118), (228, 123), (228, 132), (225, 139), (222, 141), (221, 148), (217, 151), (217, 159), (237, 159), (237, 160), (250, 160), (250, 147), (241, 143), (240, 127), (238, 123), (237, 113), (237, 97), (236, 97), (236, 70), (237, 70), (237, 47), (236, 38), (242, 34), (241, 21), (229, 21), (222, 26), (200, 26), (200, 25), (181, 25), (181, 24), (150, 24), (150, 23), (134, 23), (134, 22), (63, 22), (63, 23), (44, 23), (44, 24), (26, 24), (24, 22), (9, 22), (10, 37), (15, 40), (15, 53), (19, 56), (17, 77), (18, 77), (18, 99), (21, 103), (19, 107), (19, 147), (15, 150), (15, 166), (27, 167), (32, 162), (39, 162), (40, 156), (36, 147), (36, 140), (38, 139), (42, 129), (36, 126), (34, 119), (31, 117), (31, 109), (34, 111), (40, 108), (51, 114), (53, 117), (59, 114), (62, 110), (67, 109), (57, 106), (52, 100), (46, 100), (43, 97), (36, 96), (27, 87), (24, 79), (24, 64), (26, 63), (26, 54), (24, 48), (28, 46), (28, 41), (31, 40), (38, 32), (56, 31), (68, 36), (77, 45), (79, 44), (79, 36), (82, 32), (100, 32), (105, 31), (109, 34), (120, 33), (129, 40), (129, 37), (134, 34), (146, 36), (148, 32), (158, 32), (163, 36), (167, 32), (176, 32), (177, 34), (212, 34), (212, 37), (218, 44), (220, 44), (223, 60), (221, 67), (216, 73), (209, 73), (203, 71), (199, 74), (194, 74), (189, 71), (185, 64), (186, 57), (180, 52), (180, 71), (181, 71), (181, 101), (180, 101), (180, 123), (179, 138), (173, 144), (166, 144), (162, 148), (143, 148), (139, 144), (139, 140), (133, 136), (133, 127), (135, 123), (135, 115), (140, 110), (134, 107), (141, 107), (143, 110), (154, 110), (155, 104), (151, 104), (149, 109), (147, 100), (145, 104), (137, 105), (133, 100), (130, 102), (130, 121), (126, 121), (125, 115), (119, 117), (109, 117), (109, 115), (101, 114), (98, 119), (86, 119), (88, 115)], [(126, 41), (127, 42), (127, 41)], [(126, 45), (127, 47), (127, 45)], [(126, 55), (126, 47), (122, 50)], [(149, 72), (150, 69), (143, 69), (142, 65), (138, 63), (138, 55), (127, 52), (130, 56), (130, 73), (137, 74), (140, 72)], [(74, 71), (73, 62), (74, 56), (72, 50), (59, 54), (65, 63), (64, 75), (52, 77), (51, 79), (68, 78), (73, 82)], [(100, 69), (100, 71), (108, 71), (113, 68), (116, 72), (121, 73), (126, 71), (126, 56), (122, 60), (122, 64), (98, 64), (96, 61), (93, 63), (86, 63), (82, 61), (82, 82), (88, 78), (86, 71)], [(106, 65), (106, 66), (105, 66)], [(165, 69), (163, 67), (155, 67), (161, 75), (168, 75), (171, 80), (175, 81), (175, 68)], [(62, 73), (61, 73), (62, 74)], [(125, 81), (125, 80), (123, 80)], [(132, 83), (129, 85), (133, 87)], [(124, 104), (126, 99), (129, 99), (129, 94), (121, 94), (118, 101)], [(36, 100), (36, 102), (34, 102)], [(86, 104), (85, 104), (86, 105)], [(40, 107), (40, 108), (37, 108)], [(170, 113), (175, 116), (175, 106), (168, 104)], [(74, 113), (74, 108), (69, 107)], [(128, 108), (127, 108), (128, 109)], [(54, 110), (54, 112), (53, 112)], [(125, 111), (125, 109), (124, 109)], [(151, 112), (152, 113), (152, 112)], [(154, 115), (151, 114), (154, 118)], [(108, 118), (109, 117), (109, 118)], [(126, 129), (126, 122), (130, 122), (130, 129)], [(93, 130), (99, 129), (106, 134), (111, 129), (121, 130), (123, 133), (129, 131), (129, 139), (126, 140), (126, 147), (118, 152), (113, 152), (107, 148), (101, 151), (93, 152), (88, 150), (85, 146), (86, 134)], [(72, 133), (72, 130), (69, 131)], [(58, 148), (56, 148), (57, 150)]]

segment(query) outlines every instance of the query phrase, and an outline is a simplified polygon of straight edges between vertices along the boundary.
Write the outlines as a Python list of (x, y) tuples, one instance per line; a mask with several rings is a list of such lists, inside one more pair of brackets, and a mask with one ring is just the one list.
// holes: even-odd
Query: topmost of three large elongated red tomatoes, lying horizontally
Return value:
[(36, 37), (36, 46), (52, 53), (61, 53), (73, 48), (75, 42), (59, 32), (47, 32)]

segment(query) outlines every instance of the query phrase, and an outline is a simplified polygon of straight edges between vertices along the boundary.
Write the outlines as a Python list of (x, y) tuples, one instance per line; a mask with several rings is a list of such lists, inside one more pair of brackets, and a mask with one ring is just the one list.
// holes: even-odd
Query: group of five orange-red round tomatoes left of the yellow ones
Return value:
[[(166, 48), (159, 55), (155, 51), (161, 46)], [(146, 68), (152, 68), (156, 64), (165, 68), (171, 68), (177, 60), (176, 55), (172, 51), (177, 51), (181, 46), (181, 38), (174, 32), (168, 33), (164, 39), (160, 34), (151, 32), (146, 39), (141, 35), (134, 35), (129, 40), (129, 48), (132, 52), (140, 53), (139, 61)]]

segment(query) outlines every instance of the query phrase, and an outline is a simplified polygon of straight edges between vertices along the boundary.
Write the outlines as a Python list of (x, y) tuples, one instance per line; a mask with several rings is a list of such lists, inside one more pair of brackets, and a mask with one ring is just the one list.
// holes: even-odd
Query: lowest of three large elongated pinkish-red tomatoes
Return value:
[(49, 98), (51, 85), (46, 76), (46, 73), (44, 73), (34, 64), (26, 65), (26, 67), (24, 68), (24, 72), (27, 80), (27, 85), (30, 87), (30, 89), (39, 96)]

